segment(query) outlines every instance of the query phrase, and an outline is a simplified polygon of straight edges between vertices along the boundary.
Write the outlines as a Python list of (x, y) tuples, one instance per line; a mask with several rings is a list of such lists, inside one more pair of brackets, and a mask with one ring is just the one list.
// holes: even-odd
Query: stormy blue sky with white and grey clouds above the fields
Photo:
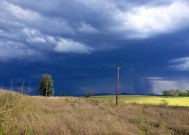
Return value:
[(0, 85), (37, 94), (189, 89), (188, 0), (1, 0)]

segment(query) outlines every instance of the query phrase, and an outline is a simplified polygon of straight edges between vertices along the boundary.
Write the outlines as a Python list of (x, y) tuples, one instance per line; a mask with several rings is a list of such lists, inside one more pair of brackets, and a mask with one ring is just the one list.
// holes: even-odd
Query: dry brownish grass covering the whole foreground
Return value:
[(187, 135), (189, 108), (0, 92), (0, 134)]

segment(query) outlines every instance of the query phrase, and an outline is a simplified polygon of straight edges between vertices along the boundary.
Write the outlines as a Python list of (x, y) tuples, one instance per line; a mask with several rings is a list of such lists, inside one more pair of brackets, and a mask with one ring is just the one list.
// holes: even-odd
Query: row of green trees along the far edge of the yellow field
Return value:
[(163, 96), (172, 96), (172, 97), (189, 97), (189, 90), (164, 90), (162, 92)]

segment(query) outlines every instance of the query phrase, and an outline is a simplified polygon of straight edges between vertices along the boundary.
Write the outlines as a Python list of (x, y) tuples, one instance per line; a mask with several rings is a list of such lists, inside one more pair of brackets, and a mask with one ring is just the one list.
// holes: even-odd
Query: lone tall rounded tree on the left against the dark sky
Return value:
[(54, 82), (52, 76), (49, 74), (43, 74), (40, 79), (39, 93), (41, 96), (53, 96)]

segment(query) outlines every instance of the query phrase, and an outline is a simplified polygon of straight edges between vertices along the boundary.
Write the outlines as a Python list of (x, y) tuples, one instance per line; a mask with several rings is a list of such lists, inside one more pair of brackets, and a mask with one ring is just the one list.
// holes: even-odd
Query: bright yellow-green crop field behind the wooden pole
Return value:
[[(115, 96), (94, 96), (91, 100), (99, 102), (115, 102)], [(164, 97), (164, 96), (119, 96), (121, 103), (138, 103), (168, 106), (189, 106), (189, 97)]]

